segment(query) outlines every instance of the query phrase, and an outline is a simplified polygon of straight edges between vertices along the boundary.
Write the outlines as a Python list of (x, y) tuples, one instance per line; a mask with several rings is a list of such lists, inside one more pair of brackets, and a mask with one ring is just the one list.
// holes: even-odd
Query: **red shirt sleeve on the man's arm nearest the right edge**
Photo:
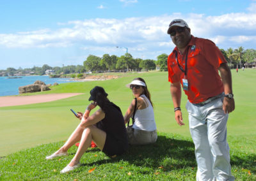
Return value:
[(220, 64), (227, 63), (220, 49), (211, 40), (204, 40), (204, 57), (214, 68), (218, 69)]

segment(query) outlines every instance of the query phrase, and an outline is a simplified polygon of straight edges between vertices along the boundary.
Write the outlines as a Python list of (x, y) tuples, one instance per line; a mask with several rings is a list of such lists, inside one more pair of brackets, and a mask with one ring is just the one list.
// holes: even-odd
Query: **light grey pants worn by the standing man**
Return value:
[(196, 180), (234, 180), (231, 175), (227, 142), (228, 114), (222, 110), (223, 98), (196, 106), (188, 101), (189, 130), (195, 143), (198, 165)]

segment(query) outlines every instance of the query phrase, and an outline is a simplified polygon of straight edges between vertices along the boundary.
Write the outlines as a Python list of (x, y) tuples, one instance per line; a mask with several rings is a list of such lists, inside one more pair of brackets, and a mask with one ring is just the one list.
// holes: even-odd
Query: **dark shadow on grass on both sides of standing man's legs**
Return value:
[[(184, 138), (183, 138), (184, 139)], [(90, 150), (93, 152), (93, 149)], [(131, 145), (129, 150), (111, 159), (84, 163), (82, 166), (93, 166), (95, 164), (117, 163), (128, 161), (129, 164), (144, 166), (148, 168), (163, 167), (164, 171), (196, 168), (195, 147), (193, 141), (179, 140), (161, 134), (157, 142), (150, 145)], [(232, 150), (231, 150), (232, 152)], [(250, 170), (256, 173), (256, 155), (232, 152), (230, 164), (240, 170)]]

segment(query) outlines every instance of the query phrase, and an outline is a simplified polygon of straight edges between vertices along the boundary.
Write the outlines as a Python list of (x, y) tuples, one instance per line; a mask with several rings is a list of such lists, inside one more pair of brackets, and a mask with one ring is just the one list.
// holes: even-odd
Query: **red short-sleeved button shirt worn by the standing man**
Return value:
[(177, 52), (177, 60), (183, 69), (185, 69), (185, 60), (188, 54), (186, 78), (189, 87), (188, 91), (184, 92), (191, 103), (200, 103), (224, 91), (218, 68), (220, 64), (227, 61), (211, 40), (191, 36), (184, 54), (180, 55), (179, 50), (175, 47), (172, 54), (168, 56), (168, 81), (180, 82), (182, 85), (184, 73), (175, 60), (175, 52)]

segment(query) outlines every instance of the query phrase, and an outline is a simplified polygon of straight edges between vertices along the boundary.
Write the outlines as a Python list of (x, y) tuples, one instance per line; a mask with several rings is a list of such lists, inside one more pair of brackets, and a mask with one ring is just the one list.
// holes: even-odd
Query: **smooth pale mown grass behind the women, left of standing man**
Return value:
[[(60, 84), (53, 87), (50, 92), (85, 93), (81, 96), (51, 103), (0, 108), (0, 156), (16, 152), (20, 148), (34, 147), (40, 143), (66, 139), (67, 133), (73, 131), (78, 121), (69, 109), (73, 108), (83, 112), (89, 103), (90, 89), (95, 85), (105, 87), (109, 99), (120, 106), (122, 112), (125, 113), (132, 100), (131, 91), (125, 85), (136, 76), (142, 76), (148, 82), (155, 105), (158, 130), (185, 133), (189, 136), (188, 126), (179, 127), (173, 120), (173, 108), (169, 92), (170, 83), (166, 81), (166, 73), (141, 73), (115, 80)], [(184, 114), (186, 117), (186, 112)]]

